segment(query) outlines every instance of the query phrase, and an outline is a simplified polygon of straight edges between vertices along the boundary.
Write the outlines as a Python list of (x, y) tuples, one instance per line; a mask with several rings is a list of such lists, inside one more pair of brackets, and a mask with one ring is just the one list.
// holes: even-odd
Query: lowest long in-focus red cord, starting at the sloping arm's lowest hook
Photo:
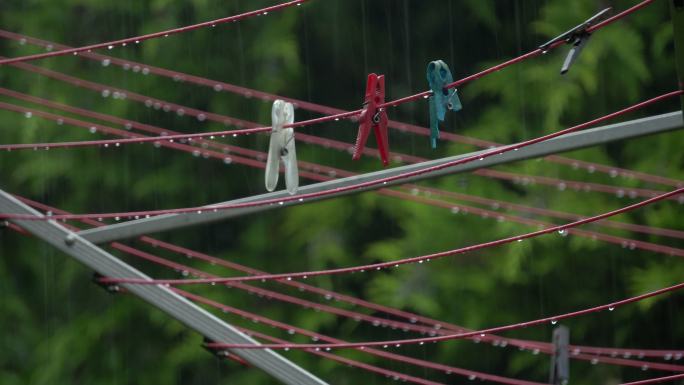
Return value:
[(376, 347), (380, 346), (383, 348), (396, 348), (400, 347), (403, 345), (414, 345), (414, 344), (425, 344), (425, 343), (432, 343), (432, 342), (442, 342), (442, 341), (450, 341), (450, 340), (456, 340), (456, 339), (461, 339), (465, 337), (473, 337), (477, 335), (486, 335), (488, 333), (500, 333), (508, 330), (516, 330), (516, 329), (522, 329), (526, 327), (531, 327), (531, 326), (536, 326), (536, 325), (541, 325), (541, 324), (547, 324), (547, 323), (556, 323), (560, 320), (563, 319), (568, 319), (568, 318), (574, 318), (586, 314), (591, 314), (591, 313), (596, 313), (599, 311), (604, 311), (604, 310), (609, 310), (612, 311), (616, 307), (619, 306), (624, 306), (633, 302), (638, 302), (642, 301), (647, 298), (652, 298), (658, 295), (674, 292), (677, 290), (684, 289), (684, 283), (679, 283), (677, 285), (665, 287), (659, 290), (655, 290), (649, 293), (641, 294), (635, 297), (630, 297), (626, 298), (620, 301), (612, 302), (610, 304), (606, 305), (600, 305), (600, 306), (595, 306), (592, 308), (588, 309), (583, 309), (583, 310), (578, 310), (570, 313), (564, 313), (564, 314), (558, 314), (556, 316), (552, 317), (544, 317), (532, 321), (526, 321), (526, 322), (520, 322), (517, 324), (511, 324), (511, 325), (506, 325), (506, 326), (498, 326), (498, 327), (493, 327), (493, 328), (488, 328), (488, 329), (482, 329), (474, 332), (468, 332), (468, 333), (459, 333), (459, 334), (452, 334), (452, 335), (446, 335), (446, 336), (437, 336), (437, 337), (425, 337), (425, 338), (410, 338), (410, 339), (402, 339), (402, 340), (387, 340), (387, 341), (370, 341), (370, 342), (353, 342), (353, 343), (333, 343), (333, 344), (264, 344), (260, 346), (255, 346), (255, 345), (246, 345), (246, 344), (220, 344), (220, 343), (212, 343), (208, 344), (208, 347), (212, 348), (217, 348), (217, 349), (350, 349), (350, 348), (368, 348), (368, 347)]

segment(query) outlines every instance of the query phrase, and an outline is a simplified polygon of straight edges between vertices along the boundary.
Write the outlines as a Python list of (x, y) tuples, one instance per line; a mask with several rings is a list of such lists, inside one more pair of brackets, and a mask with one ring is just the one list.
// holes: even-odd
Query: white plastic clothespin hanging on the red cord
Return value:
[(299, 187), (299, 169), (297, 168), (297, 153), (295, 151), (294, 130), (292, 127), (283, 128), (294, 122), (294, 107), (292, 103), (283, 100), (273, 102), (271, 109), (271, 141), (268, 146), (268, 161), (266, 162), (266, 190), (273, 191), (278, 185), (280, 162), (285, 166), (285, 186), (287, 192), (295, 194)]

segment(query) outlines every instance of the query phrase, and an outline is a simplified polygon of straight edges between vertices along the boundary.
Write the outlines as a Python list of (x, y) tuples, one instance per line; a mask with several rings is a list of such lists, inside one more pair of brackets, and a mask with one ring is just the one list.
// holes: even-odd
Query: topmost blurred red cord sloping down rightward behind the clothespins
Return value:
[[(57, 44), (54, 42), (40, 40), (40, 39), (32, 38), (30, 36), (20, 35), (20, 34), (7, 32), (7, 31), (3, 31), (3, 30), (0, 30), (0, 37), (6, 38), (6, 39), (12, 39), (12, 40), (19, 41), (22, 43), (28, 42), (30, 44), (39, 45), (39, 46), (49, 48), (49, 49), (52, 49), (53, 47), (56, 47), (59, 49), (71, 48), (69, 46), (60, 45), (60, 44)], [(207, 79), (207, 78), (203, 78), (203, 77), (199, 77), (199, 76), (189, 75), (189, 74), (185, 74), (182, 72), (172, 71), (172, 70), (168, 70), (168, 69), (164, 69), (164, 68), (149, 66), (147, 64), (134, 62), (134, 61), (130, 61), (130, 60), (122, 60), (122, 59), (114, 58), (111, 56), (105, 56), (105, 55), (100, 55), (100, 54), (96, 54), (96, 53), (85, 53), (82, 55), (82, 57), (87, 58), (89, 60), (100, 61), (102, 63), (102, 65), (104, 65), (104, 66), (108, 66), (109, 64), (113, 64), (113, 65), (118, 65), (118, 66), (122, 67), (124, 70), (128, 70), (131, 68), (133, 69), (134, 72), (136, 69), (137, 69), (137, 71), (142, 70), (143, 73), (150, 73), (150, 74), (154, 74), (154, 75), (158, 75), (158, 76), (167, 77), (167, 78), (173, 79), (174, 81), (184, 81), (184, 82), (187, 81), (188, 83), (193, 83), (193, 84), (200, 85), (200, 86), (210, 87), (217, 92), (227, 91), (227, 92), (231, 92), (231, 93), (234, 93), (237, 95), (242, 95), (242, 96), (247, 97), (247, 98), (257, 98), (257, 99), (261, 99), (261, 100), (265, 100), (265, 101), (271, 101), (271, 102), (276, 100), (276, 99), (282, 99), (282, 100), (293, 103), (295, 106), (297, 106), (299, 108), (309, 110), (309, 111), (313, 111), (313, 112), (318, 112), (318, 113), (321, 113), (324, 115), (334, 115), (334, 114), (344, 112), (343, 110), (340, 110), (338, 108), (333, 108), (333, 107), (324, 106), (324, 105), (320, 105), (320, 104), (310, 103), (310, 102), (306, 102), (306, 101), (298, 100), (298, 99), (293, 99), (293, 98), (287, 98), (287, 97), (274, 95), (274, 94), (270, 94), (270, 93), (263, 92), (263, 91), (258, 91), (258, 90), (254, 90), (254, 89), (250, 89), (250, 88), (246, 88), (246, 87), (237, 86), (237, 85), (231, 84), (231, 83), (226, 83), (226, 82)], [(171, 110), (171, 108), (169, 106), (169, 111), (170, 110)], [(207, 116), (207, 119), (212, 120), (211, 116)], [(235, 123), (235, 125), (237, 127), (241, 127), (239, 122)], [(406, 123), (401, 123), (401, 122), (390, 120), (388, 122), (388, 126), (391, 128), (400, 130), (400, 131), (411, 132), (411, 133), (415, 133), (415, 134), (419, 134), (419, 135), (423, 135), (423, 136), (429, 136), (430, 135), (430, 131), (427, 128), (416, 126), (413, 124), (406, 124)], [(252, 128), (258, 127), (258, 125), (254, 124), (251, 127)], [(481, 147), (481, 148), (496, 147), (496, 146), (500, 145), (500, 143), (490, 142), (490, 141), (486, 141), (486, 140), (482, 140), (482, 139), (470, 138), (467, 136), (457, 135), (457, 134), (453, 134), (450, 132), (443, 132), (443, 133), (441, 133), (440, 137), (442, 139), (449, 140), (452, 142), (470, 144), (470, 145), (474, 145), (474, 146)], [(544, 159), (546, 159), (550, 162), (563, 164), (566, 166), (571, 166), (573, 168), (584, 168), (584, 169), (588, 170), (589, 172), (598, 171), (598, 172), (603, 172), (603, 173), (609, 174), (611, 176), (622, 175), (623, 177), (634, 177), (636, 179), (639, 179), (639, 180), (642, 180), (645, 182), (658, 183), (658, 184), (663, 184), (663, 185), (668, 185), (668, 186), (676, 186), (676, 187), (684, 186), (684, 182), (682, 182), (682, 181), (678, 181), (678, 180), (674, 180), (674, 179), (670, 179), (670, 178), (665, 178), (665, 177), (658, 176), (658, 175), (652, 175), (652, 174), (647, 174), (647, 173), (642, 173), (642, 172), (637, 172), (637, 171), (632, 171), (632, 170), (625, 170), (625, 169), (621, 169), (618, 167), (612, 167), (612, 166), (606, 166), (606, 165), (592, 163), (592, 162), (570, 159), (570, 158), (565, 158), (565, 157), (561, 157), (558, 155), (549, 155), (549, 156), (546, 156)]]

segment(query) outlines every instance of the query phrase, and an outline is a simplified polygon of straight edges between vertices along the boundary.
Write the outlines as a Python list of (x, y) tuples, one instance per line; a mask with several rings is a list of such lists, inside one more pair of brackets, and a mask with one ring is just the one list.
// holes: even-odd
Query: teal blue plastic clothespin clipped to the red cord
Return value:
[(449, 66), (441, 60), (435, 60), (428, 64), (427, 79), (432, 95), (430, 103), (430, 144), (437, 147), (439, 139), (439, 122), (443, 122), (446, 111), (459, 111), (463, 106), (458, 98), (455, 88), (447, 89), (446, 85), (454, 82)]

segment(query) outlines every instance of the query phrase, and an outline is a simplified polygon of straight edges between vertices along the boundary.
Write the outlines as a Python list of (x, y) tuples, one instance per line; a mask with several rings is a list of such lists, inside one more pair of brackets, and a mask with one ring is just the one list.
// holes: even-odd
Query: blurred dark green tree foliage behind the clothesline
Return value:
[[(2, 29), (72, 46), (187, 25), (272, 5), (271, 1), (220, 0), (2, 0)], [(235, 24), (116, 48), (108, 54), (153, 66), (343, 109), (358, 108), (369, 72), (386, 75), (388, 98), (427, 89), (428, 62), (444, 59), (455, 78), (530, 51), (597, 10), (622, 10), (635, 1), (606, 0), (312, 0), (301, 7)], [(445, 131), (510, 143), (599, 117), (675, 89), (676, 71), (668, 2), (658, 0), (592, 37), (580, 60), (558, 74), (567, 47), (463, 86), (464, 108), (451, 113)], [(0, 40), (2, 56), (41, 52), (31, 44)], [(31, 63), (204, 111), (270, 124), (271, 104), (209, 87), (64, 56)], [(130, 100), (103, 97), (14, 67), (0, 68), (0, 84), (37, 97), (182, 132), (223, 125)], [(9, 97), (1, 101), (28, 105)], [(679, 109), (659, 103), (624, 120)], [(32, 106), (35, 107), (35, 106)], [(425, 101), (392, 109), (390, 118), (428, 125)], [(297, 120), (315, 117), (297, 110)], [(84, 140), (104, 137), (54, 121), (0, 112), (0, 142)], [(120, 127), (119, 127), (120, 128)], [(305, 127), (301, 132), (352, 142), (350, 122)], [(226, 140), (266, 151), (268, 137)], [(599, 146), (565, 154), (585, 161), (684, 179), (684, 132)], [(373, 139), (370, 144), (374, 146)], [(392, 130), (394, 151), (438, 158), (474, 150)], [(355, 172), (380, 168), (377, 159), (352, 162), (346, 152), (298, 144), (299, 158)], [(397, 164), (394, 164), (397, 165)], [(617, 186), (667, 190), (623, 175), (590, 172), (541, 160), (498, 170)], [(76, 213), (187, 207), (264, 192), (263, 171), (192, 157), (150, 145), (0, 154), (0, 185)], [(281, 186), (282, 186), (281, 181)], [(302, 184), (312, 181), (302, 178)], [(638, 201), (473, 174), (423, 183), (459, 193), (581, 215)], [(622, 196), (625, 195), (625, 196)], [(488, 208), (488, 207), (487, 207)], [(503, 211), (503, 209), (500, 209)], [(617, 220), (684, 230), (682, 205), (662, 202)], [(560, 223), (560, 222), (558, 222)], [(589, 229), (683, 247), (681, 240)], [(364, 193), (274, 210), (221, 223), (171, 231), (160, 239), (269, 272), (317, 270), (389, 261), (472, 245), (535, 230), (463, 211)], [(145, 246), (131, 245), (220, 275), (216, 266)], [(157, 277), (177, 272), (113, 251)], [(142, 301), (109, 295), (91, 283), (88, 269), (35, 239), (0, 230), (0, 383), (14, 384), (273, 384), (257, 369), (219, 361), (201, 336)], [(310, 280), (321, 287), (426, 316), (486, 328), (608, 303), (682, 281), (677, 257), (601, 243), (575, 235), (548, 235), (428, 264)], [(296, 290), (268, 288), (326, 302)], [(351, 341), (405, 338), (408, 334), (301, 309), (236, 289), (193, 288), (231, 306)], [(571, 342), (627, 348), (684, 347), (682, 294), (614, 312), (564, 322)], [(326, 302), (327, 303), (327, 302)], [(330, 304), (346, 308), (345, 304)], [(294, 341), (301, 336), (221, 314), (228, 322)], [(549, 341), (553, 326), (507, 333)], [(453, 341), (404, 348), (430, 361), (546, 382), (549, 358), (517, 349)], [(331, 384), (385, 384), (391, 379), (324, 361), (283, 353)], [(341, 352), (364, 362), (456, 384), (467, 379)], [(662, 361), (662, 359), (661, 359)], [(679, 362), (680, 364), (682, 362)], [(616, 384), (664, 375), (654, 370), (572, 362), (573, 384)]]

